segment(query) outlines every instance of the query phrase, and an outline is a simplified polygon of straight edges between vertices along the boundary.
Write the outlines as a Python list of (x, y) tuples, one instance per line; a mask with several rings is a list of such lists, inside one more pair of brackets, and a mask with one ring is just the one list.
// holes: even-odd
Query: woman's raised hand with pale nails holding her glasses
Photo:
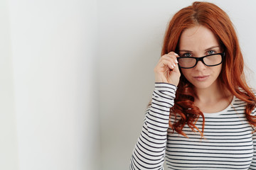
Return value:
[(181, 73), (178, 69), (178, 55), (175, 52), (169, 52), (163, 55), (154, 68), (156, 82), (174, 84), (178, 86)]

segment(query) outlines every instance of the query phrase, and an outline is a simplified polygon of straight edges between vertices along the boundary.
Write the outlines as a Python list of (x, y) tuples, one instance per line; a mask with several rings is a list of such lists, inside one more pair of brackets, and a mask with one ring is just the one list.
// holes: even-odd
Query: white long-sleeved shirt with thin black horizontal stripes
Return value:
[[(164, 169), (164, 162), (168, 169), (256, 169), (256, 132), (245, 118), (244, 101), (234, 96), (225, 110), (204, 113), (204, 138), (185, 125), (187, 138), (169, 128), (175, 93), (172, 84), (155, 84), (129, 169)], [(199, 118), (196, 126), (202, 123)]]

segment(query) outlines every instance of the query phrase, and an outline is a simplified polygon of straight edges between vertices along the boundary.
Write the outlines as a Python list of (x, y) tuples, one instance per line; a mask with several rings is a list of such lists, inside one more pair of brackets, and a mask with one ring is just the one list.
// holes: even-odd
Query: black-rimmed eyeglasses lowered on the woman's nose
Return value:
[(208, 67), (213, 67), (223, 62), (225, 52), (206, 55), (203, 57), (177, 57), (179, 67), (183, 69), (191, 69), (196, 66), (198, 61), (203, 62)]

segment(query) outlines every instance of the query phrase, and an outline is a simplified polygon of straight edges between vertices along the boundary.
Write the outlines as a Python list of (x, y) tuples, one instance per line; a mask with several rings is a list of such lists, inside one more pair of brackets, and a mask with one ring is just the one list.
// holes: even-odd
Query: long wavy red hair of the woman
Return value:
[[(219, 81), (225, 89), (228, 89), (234, 96), (245, 101), (245, 115), (250, 125), (256, 126), (256, 118), (250, 113), (255, 108), (255, 94), (245, 81), (243, 72), (244, 62), (242, 52), (238, 43), (238, 38), (233, 28), (233, 23), (228, 15), (215, 4), (208, 2), (193, 2), (192, 6), (182, 8), (171, 19), (164, 37), (164, 45), (161, 55), (171, 51), (178, 52), (178, 40), (181, 33), (186, 28), (193, 26), (205, 26), (213, 31), (220, 45), (225, 50), (223, 68), (220, 72)], [(181, 78), (176, 91), (174, 107), (170, 110), (170, 115), (181, 115), (181, 119), (175, 123), (169, 123), (170, 127), (181, 135), (186, 136), (182, 131), (184, 125), (188, 125), (193, 131), (198, 131), (203, 137), (205, 119), (203, 113), (194, 105), (193, 85), (186, 80), (181, 72)], [(203, 128), (196, 127), (199, 117), (203, 118)]]

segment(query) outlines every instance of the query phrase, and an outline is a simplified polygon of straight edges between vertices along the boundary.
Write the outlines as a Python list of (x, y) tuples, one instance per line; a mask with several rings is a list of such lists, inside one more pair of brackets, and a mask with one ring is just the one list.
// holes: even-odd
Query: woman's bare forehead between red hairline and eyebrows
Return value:
[(178, 47), (179, 50), (199, 52), (215, 45), (219, 45), (218, 39), (209, 28), (194, 26), (183, 30)]

